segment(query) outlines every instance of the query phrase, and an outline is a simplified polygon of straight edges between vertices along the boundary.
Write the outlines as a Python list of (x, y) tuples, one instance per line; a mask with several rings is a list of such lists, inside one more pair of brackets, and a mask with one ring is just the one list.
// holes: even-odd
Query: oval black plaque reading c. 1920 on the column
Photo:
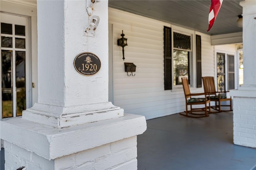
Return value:
[(100, 59), (93, 53), (84, 52), (74, 60), (76, 71), (84, 76), (92, 76), (100, 70)]

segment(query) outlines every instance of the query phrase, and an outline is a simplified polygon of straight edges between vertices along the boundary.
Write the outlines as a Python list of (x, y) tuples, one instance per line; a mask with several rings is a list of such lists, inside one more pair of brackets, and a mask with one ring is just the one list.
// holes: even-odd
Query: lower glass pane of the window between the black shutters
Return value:
[(174, 85), (182, 84), (181, 78), (188, 78), (188, 51), (173, 50)]

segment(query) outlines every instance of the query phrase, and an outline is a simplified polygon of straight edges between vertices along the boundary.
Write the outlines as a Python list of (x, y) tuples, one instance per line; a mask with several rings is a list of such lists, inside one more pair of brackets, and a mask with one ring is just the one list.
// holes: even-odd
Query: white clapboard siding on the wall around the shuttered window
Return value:
[[(146, 119), (184, 111), (183, 89), (164, 90), (164, 26), (171, 24), (112, 8), (109, 8), (109, 23), (113, 24), (114, 105)], [(128, 39), (124, 61), (122, 47), (117, 46), (122, 30)], [(202, 75), (214, 76), (210, 35), (195, 33), (202, 39)], [(136, 65), (135, 76), (124, 72), (125, 62)], [(203, 88), (192, 88), (192, 92), (203, 92)]]

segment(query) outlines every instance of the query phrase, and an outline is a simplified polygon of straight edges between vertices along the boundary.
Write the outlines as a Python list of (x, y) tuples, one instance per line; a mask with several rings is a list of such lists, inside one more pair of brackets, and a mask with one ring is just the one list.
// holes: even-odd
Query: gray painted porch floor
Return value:
[(256, 149), (233, 144), (233, 114), (179, 114), (147, 121), (138, 170), (256, 170)]

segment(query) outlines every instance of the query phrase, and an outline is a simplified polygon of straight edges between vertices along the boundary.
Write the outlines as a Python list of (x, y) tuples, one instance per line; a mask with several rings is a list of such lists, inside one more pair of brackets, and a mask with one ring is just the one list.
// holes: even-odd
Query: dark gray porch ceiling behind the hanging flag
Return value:
[(156, 20), (192, 28), (209, 35), (242, 32), (236, 25), (242, 14), (242, 0), (223, 0), (220, 12), (210, 31), (210, 0), (109, 0), (108, 6)]

